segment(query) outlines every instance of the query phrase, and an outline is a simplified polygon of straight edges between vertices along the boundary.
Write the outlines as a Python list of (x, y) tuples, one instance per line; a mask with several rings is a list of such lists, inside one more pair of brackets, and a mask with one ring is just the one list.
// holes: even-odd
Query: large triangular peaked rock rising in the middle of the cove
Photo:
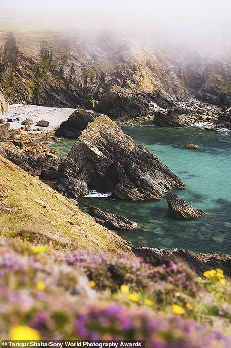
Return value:
[(183, 181), (105, 115), (90, 122), (61, 163), (57, 190), (70, 198), (94, 188), (121, 199), (159, 199)]

